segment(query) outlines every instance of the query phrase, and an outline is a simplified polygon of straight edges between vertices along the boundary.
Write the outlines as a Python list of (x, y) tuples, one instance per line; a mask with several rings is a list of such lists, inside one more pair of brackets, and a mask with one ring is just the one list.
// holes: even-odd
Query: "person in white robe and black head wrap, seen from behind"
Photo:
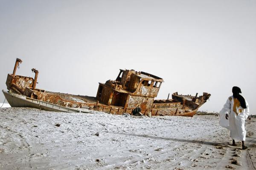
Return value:
[[(244, 145), (246, 131), (244, 122), (249, 113), (249, 106), (247, 101), (241, 96), (241, 89), (237, 86), (232, 88), (233, 96), (227, 99), (223, 109), (220, 111), (219, 124), (230, 130), (230, 137), (232, 138), (232, 145), (236, 146), (236, 141), (242, 141), (242, 149), (247, 147)], [(229, 120), (228, 120), (229, 119)]]

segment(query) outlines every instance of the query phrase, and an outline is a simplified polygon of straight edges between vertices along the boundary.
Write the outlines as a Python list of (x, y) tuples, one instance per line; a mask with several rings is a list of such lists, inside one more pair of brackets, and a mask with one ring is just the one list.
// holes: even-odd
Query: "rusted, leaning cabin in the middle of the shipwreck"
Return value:
[(163, 79), (146, 72), (120, 69), (115, 81), (99, 83), (97, 100), (109, 106), (150, 111)]

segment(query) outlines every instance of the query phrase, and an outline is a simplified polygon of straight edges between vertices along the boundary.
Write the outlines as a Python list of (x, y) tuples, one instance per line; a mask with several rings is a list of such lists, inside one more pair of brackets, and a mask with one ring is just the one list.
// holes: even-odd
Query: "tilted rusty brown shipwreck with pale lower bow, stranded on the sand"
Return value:
[(38, 70), (35, 78), (16, 75), (22, 61), (16, 59), (12, 74), (8, 74), (5, 92), (7, 101), (12, 107), (36, 107), (49, 111), (88, 112), (90, 110), (111, 114), (131, 114), (133, 109), (140, 107), (143, 115), (179, 115), (193, 116), (199, 107), (210, 97), (203, 95), (172, 94), (172, 99), (155, 100), (164, 82), (162, 78), (146, 72), (120, 69), (115, 81), (99, 83), (96, 97), (70, 95), (37, 89)]

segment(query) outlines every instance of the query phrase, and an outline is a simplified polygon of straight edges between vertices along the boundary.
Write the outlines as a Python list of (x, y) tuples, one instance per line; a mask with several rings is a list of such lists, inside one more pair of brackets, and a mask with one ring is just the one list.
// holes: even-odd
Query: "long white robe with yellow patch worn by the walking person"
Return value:
[[(230, 137), (237, 141), (245, 141), (246, 131), (244, 121), (250, 115), (247, 101), (245, 101), (245, 103), (246, 109), (240, 106), (240, 102), (237, 98), (230, 96), (226, 104), (224, 104), (223, 109), (220, 111), (219, 124), (229, 129)], [(229, 115), (229, 120), (225, 118), (226, 114)]]

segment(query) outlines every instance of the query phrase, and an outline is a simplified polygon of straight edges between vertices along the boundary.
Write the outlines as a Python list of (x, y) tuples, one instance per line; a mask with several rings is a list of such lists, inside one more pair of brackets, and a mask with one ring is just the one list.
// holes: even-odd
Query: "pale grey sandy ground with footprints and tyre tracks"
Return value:
[[(56, 126), (56, 125), (60, 126)], [(255, 170), (256, 119), (248, 150), (232, 147), (214, 115), (134, 117), (0, 109), (0, 169)]]

